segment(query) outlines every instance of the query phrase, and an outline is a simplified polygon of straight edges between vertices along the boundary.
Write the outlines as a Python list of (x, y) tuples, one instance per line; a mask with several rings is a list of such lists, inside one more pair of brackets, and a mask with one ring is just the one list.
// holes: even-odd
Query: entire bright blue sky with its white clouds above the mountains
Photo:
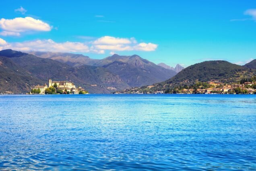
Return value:
[(114, 53), (187, 67), (256, 59), (255, 0), (2, 0), (0, 50)]

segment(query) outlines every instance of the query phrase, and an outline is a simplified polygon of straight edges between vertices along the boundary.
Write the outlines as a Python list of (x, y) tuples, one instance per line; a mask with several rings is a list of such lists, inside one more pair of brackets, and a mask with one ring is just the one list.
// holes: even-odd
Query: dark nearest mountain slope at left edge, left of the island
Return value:
[[(19, 54), (16, 54), (19, 55)], [(31, 87), (43, 84), (29, 71), (15, 64), (8, 57), (0, 56), (0, 93), (27, 93)]]

